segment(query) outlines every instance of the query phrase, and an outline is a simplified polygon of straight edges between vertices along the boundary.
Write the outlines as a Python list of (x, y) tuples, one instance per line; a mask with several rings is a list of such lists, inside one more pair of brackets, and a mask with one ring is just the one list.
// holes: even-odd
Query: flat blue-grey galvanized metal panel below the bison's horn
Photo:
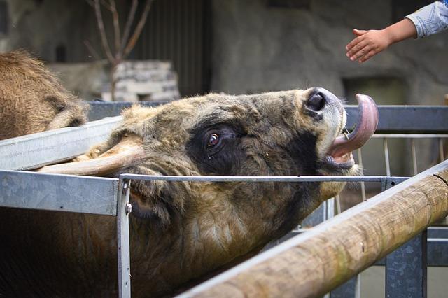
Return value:
[(118, 179), (0, 171), (0, 206), (117, 214)]

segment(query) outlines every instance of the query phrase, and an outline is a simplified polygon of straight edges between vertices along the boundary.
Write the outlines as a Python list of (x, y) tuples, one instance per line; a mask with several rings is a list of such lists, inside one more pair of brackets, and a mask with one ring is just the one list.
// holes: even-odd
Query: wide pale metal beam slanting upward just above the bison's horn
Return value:
[(0, 141), (0, 169), (36, 169), (81, 155), (90, 146), (105, 141), (122, 119), (118, 116)]

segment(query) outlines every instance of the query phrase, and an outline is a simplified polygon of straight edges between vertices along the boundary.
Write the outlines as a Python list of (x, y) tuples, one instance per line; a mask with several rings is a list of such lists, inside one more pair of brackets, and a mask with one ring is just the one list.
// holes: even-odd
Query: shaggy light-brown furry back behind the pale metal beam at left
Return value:
[(86, 111), (26, 52), (0, 54), (0, 140), (81, 125)]

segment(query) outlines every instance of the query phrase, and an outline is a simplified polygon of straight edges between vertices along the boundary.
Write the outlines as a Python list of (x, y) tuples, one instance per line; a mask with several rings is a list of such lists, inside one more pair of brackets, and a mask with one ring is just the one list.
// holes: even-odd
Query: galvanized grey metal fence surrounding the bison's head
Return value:
[[(153, 104), (151, 104), (153, 105)], [(92, 104), (91, 120), (105, 115), (117, 115), (127, 104)], [(117, 108), (118, 107), (118, 108)], [(357, 119), (354, 106), (347, 106), (349, 113), (348, 126), (351, 127)], [(45, 164), (71, 159), (80, 155), (89, 146), (103, 141), (111, 128), (120, 123), (120, 116), (105, 118), (89, 122), (83, 127), (70, 127), (55, 131), (43, 132), (29, 136), (0, 141), (0, 206), (13, 208), (31, 208), (50, 211), (69, 211), (79, 213), (94, 213), (113, 215), (117, 218), (118, 240), (118, 278), (120, 297), (130, 297), (130, 253), (129, 253), (129, 194), (132, 180), (169, 180), (169, 181), (344, 181), (360, 183), (360, 198), (367, 199), (365, 183), (379, 183), (381, 190), (386, 190), (405, 180), (405, 177), (391, 176), (389, 162), (388, 139), (410, 138), (411, 140), (430, 138), (437, 139), (439, 144), (439, 158), (444, 159), (443, 139), (448, 138), (448, 107), (428, 106), (380, 106), (379, 133), (374, 138), (384, 139), (384, 176), (302, 176), (302, 177), (204, 177), (204, 176), (140, 176), (123, 174), (120, 178), (96, 178), (70, 175), (54, 175), (18, 171), (33, 169)], [(397, 119), (398, 118), (398, 119)], [(421, 121), (425, 119), (425, 121)], [(394, 133), (394, 134), (391, 134)], [(411, 133), (411, 134), (406, 134)], [(412, 144), (412, 163), (414, 173), (417, 169), (417, 152), (415, 141)], [(64, 147), (64, 152), (55, 147)], [(70, 148), (65, 150), (65, 148)], [(57, 155), (55, 155), (57, 152)], [(362, 164), (362, 152), (358, 150), (358, 162)], [(45, 184), (45, 192), (41, 192), (41, 185)], [(88, 191), (87, 191), (88, 190)], [(20, 199), (18, 199), (20, 198)], [(87, 204), (88, 202), (88, 204)], [(341, 211), (339, 198), (330, 199), (302, 222), (297, 230), (283, 237), (290, 238), (297, 233), (304, 232), (304, 227), (311, 227), (318, 222), (331, 218)], [(427, 236), (427, 234), (429, 236)], [(447, 266), (448, 230), (445, 227), (428, 229), (406, 246), (389, 255), (386, 264), (386, 295), (387, 297), (426, 297), (426, 264), (431, 266)], [(426, 258), (426, 255), (428, 256)], [(427, 260), (426, 260), (427, 259)], [(418, 264), (418, 265), (416, 265)], [(405, 270), (402, 266), (409, 266), (414, 270)], [(398, 269), (398, 267), (400, 267)], [(416, 268), (416, 269), (415, 269)], [(353, 278), (342, 287), (334, 290), (330, 297), (358, 297), (359, 278)], [(405, 281), (398, 283), (397, 281)], [(406, 288), (407, 283), (418, 285)]]

